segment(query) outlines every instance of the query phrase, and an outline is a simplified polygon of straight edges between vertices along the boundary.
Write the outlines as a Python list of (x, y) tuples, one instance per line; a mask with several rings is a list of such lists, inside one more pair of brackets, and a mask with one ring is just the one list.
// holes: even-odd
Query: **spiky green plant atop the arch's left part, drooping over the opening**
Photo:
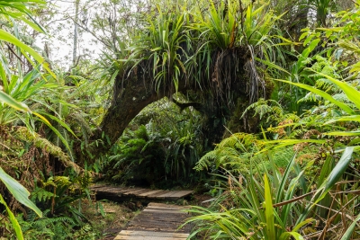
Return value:
[(157, 6), (157, 16), (148, 19), (147, 33), (142, 34), (139, 42), (130, 47), (130, 61), (139, 64), (142, 60), (148, 60), (148, 67), (153, 68), (149, 71), (152, 72), (157, 92), (160, 87), (173, 85), (177, 92), (182, 73), (186, 75), (182, 54), (187, 49), (184, 34), (187, 18), (185, 12), (163, 13)]

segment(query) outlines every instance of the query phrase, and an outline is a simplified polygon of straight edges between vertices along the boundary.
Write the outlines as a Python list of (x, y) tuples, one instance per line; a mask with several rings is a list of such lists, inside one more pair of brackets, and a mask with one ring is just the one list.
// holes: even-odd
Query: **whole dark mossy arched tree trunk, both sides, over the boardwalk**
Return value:
[[(216, 76), (218, 76), (216, 79), (222, 81), (222, 79), (226, 78), (228, 82), (216, 84), (214, 82), (214, 74), (211, 74), (210, 77), (205, 77), (208, 75), (204, 74), (202, 88), (200, 88), (198, 86), (199, 83), (183, 75), (179, 77), (177, 87), (177, 91), (184, 93), (184, 95), (186, 95), (185, 92), (187, 90), (191, 90), (201, 96), (202, 102), (200, 103), (202, 106), (197, 104), (197, 109), (195, 109), (201, 111), (205, 118), (206, 126), (203, 126), (202, 130), (203, 134), (206, 135), (204, 138), (209, 139), (211, 147), (213, 143), (220, 142), (225, 126), (235, 112), (234, 109), (238, 99), (241, 99), (240, 102), (247, 106), (249, 102), (247, 89), (251, 88), (249, 87), (251, 86), (251, 80), (244, 69), (247, 62), (247, 52), (244, 49), (234, 49), (228, 50), (225, 53), (221, 51), (221, 53), (223, 53), (223, 61), (221, 64), (218, 64), (218, 61), (214, 60), (210, 67), (211, 73), (216, 72)], [(216, 57), (219, 54), (215, 51), (213, 55)], [(215, 57), (214, 59), (217, 59)], [(171, 99), (175, 92), (172, 79), (168, 79), (166, 85), (161, 85), (157, 93), (153, 76), (150, 74), (152, 70), (149, 70), (148, 66), (152, 67), (153, 65), (144, 61), (139, 63), (136, 69), (131, 70), (130, 76), (126, 72), (116, 77), (112, 91), (111, 106), (106, 111), (98, 130), (90, 139), (92, 144), (88, 150), (94, 157), (100, 156), (109, 150), (118, 138), (121, 137), (130, 121), (148, 104), (156, 102), (165, 96)], [(228, 70), (229, 68), (231, 69)], [(181, 109), (182, 107), (184, 108), (184, 105), (190, 106), (192, 104), (180, 105)], [(241, 109), (243, 108), (238, 108), (239, 111)], [(247, 126), (242, 125), (241, 123), (238, 129), (248, 130)], [(101, 139), (101, 143), (99, 139)], [(80, 152), (78, 154), (81, 155)]]

